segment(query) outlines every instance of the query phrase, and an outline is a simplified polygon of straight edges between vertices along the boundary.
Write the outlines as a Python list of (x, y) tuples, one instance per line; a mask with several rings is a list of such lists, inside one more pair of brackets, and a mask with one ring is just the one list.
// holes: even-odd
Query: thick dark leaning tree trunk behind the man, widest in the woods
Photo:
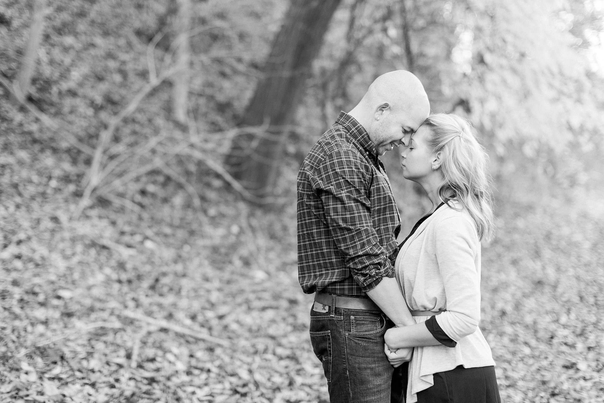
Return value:
[(304, 82), (340, 0), (292, 0), (240, 127), (268, 124), (265, 136), (242, 135), (226, 163), (253, 195), (270, 196)]

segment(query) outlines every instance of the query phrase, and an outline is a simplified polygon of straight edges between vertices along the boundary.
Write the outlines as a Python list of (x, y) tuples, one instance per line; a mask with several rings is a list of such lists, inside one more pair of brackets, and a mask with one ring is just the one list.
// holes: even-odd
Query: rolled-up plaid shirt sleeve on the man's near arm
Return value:
[(337, 150), (309, 175), (323, 201), (325, 219), (345, 265), (365, 292), (394, 277), (392, 262), (371, 220), (367, 197), (373, 173), (349, 150)]

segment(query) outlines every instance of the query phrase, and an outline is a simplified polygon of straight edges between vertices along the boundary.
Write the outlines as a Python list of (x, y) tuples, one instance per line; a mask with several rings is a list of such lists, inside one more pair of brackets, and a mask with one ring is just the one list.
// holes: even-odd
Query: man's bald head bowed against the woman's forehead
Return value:
[(382, 155), (394, 146), (407, 145), (429, 113), (428, 95), (420, 80), (409, 71), (396, 70), (377, 77), (349, 115), (365, 127)]

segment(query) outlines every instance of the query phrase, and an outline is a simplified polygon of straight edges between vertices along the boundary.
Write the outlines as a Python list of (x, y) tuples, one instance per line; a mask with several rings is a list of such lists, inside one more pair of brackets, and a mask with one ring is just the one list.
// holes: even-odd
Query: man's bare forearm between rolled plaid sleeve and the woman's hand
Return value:
[(394, 277), (384, 277), (377, 286), (367, 291), (367, 295), (396, 326), (415, 324)]

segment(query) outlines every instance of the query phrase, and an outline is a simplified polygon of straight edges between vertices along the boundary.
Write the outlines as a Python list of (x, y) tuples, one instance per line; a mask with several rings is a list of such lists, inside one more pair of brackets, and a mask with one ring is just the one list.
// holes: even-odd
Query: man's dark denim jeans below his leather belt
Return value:
[(330, 403), (402, 403), (402, 367), (384, 353), (384, 334), (394, 324), (380, 311), (310, 309), (310, 341), (323, 364)]

